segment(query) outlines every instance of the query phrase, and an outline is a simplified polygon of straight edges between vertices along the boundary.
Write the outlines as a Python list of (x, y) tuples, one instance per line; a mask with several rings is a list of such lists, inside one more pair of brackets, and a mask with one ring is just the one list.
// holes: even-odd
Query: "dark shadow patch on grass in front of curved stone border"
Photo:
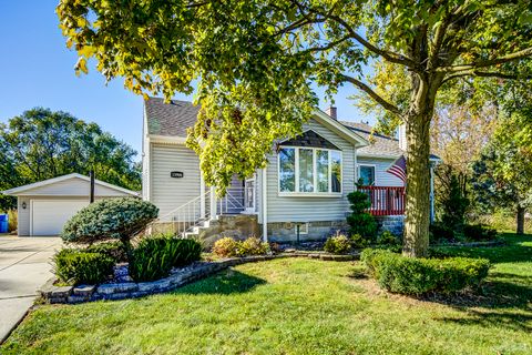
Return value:
[(249, 276), (235, 270), (226, 270), (212, 277), (178, 288), (174, 293), (188, 295), (231, 295), (249, 292), (256, 286), (263, 284), (266, 284), (266, 281), (263, 278)]

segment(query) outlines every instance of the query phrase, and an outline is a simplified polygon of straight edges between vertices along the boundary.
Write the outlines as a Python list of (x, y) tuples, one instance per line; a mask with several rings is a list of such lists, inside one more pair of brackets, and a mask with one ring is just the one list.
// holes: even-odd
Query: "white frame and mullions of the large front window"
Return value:
[[(280, 145), (280, 149), (294, 149), (294, 191), (280, 191), (280, 154), (277, 153), (277, 195), (278, 196), (305, 196), (305, 197), (339, 197), (344, 193), (344, 152), (337, 149), (329, 149), (329, 148), (318, 148), (318, 146), (296, 146), (296, 145)], [(299, 150), (311, 150), (313, 151), (313, 184), (314, 191), (313, 192), (303, 192), (299, 191)], [(328, 152), (328, 160), (329, 160), (329, 181), (328, 181), (328, 192), (318, 192), (318, 175), (317, 175), (317, 162), (316, 162), (316, 151), (327, 151)], [(331, 153), (330, 152), (338, 152), (340, 153), (340, 161), (341, 161), (341, 169), (340, 169), (340, 191), (332, 192), (332, 164), (331, 164)]]

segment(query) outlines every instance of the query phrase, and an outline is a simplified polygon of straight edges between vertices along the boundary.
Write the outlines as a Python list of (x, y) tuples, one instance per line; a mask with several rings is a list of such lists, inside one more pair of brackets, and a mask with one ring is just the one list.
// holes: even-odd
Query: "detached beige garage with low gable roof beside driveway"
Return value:
[[(58, 235), (63, 224), (89, 204), (91, 180), (69, 174), (3, 191), (18, 197), (19, 235)], [(94, 181), (94, 199), (136, 196), (137, 193)]]

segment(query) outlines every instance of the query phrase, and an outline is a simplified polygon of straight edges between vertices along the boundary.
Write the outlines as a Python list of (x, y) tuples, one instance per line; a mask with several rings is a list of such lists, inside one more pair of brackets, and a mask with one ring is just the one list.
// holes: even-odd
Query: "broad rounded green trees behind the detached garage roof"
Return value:
[[(65, 112), (32, 109), (12, 118), (0, 125), (0, 149), (1, 190), (73, 172), (88, 175), (91, 169), (109, 183), (141, 186), (131, 146)], [(1, 201), (13, 207), (11, 200)]]

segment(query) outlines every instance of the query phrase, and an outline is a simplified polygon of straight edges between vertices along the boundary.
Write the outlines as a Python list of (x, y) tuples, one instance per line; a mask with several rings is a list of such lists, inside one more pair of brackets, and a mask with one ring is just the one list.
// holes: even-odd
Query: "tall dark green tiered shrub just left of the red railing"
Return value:
[(354, 191), (347, 195), (351, 206), (351, 214), (347, 216), (347, 223), (351, 234), (360, 234), (361, 236), (374, 240), (377, 235), (377, 222), (367, 211), (371, 206), (369, 196), (361, 191)]

